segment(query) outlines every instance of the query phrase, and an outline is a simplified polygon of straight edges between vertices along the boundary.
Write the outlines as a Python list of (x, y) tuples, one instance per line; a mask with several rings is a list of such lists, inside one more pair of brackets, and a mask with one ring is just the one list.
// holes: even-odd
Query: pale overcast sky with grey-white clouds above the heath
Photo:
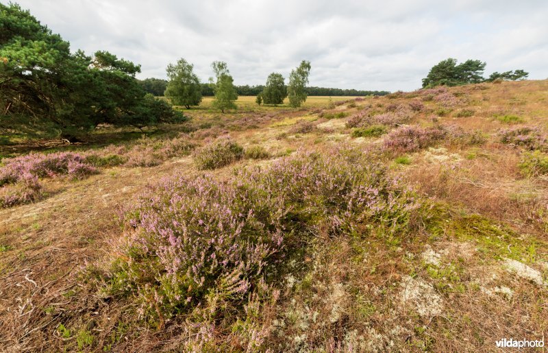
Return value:
[(414, 90), (449, 57), (548, 77), (548, 0), (16, 2), (73, 51), (141, 64), (140, 78), (185, 58), (204, 82), (222, 60), (236, 84), (264, 84), (310, 60), (311, 86)]

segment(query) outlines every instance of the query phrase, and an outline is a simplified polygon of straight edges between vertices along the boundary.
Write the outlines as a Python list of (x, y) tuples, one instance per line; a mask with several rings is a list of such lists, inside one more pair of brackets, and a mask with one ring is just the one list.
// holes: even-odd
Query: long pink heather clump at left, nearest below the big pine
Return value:
[(5, 160), (5, 166), (0, 169), (0, 186), (17, 182), (23, 175), (37, 178), (70, 175), (82, 179), (97, 173), (97, 169), (86, 162), (82, 154), (73, 152), (57, 152), (53, 154), (28, 154)]

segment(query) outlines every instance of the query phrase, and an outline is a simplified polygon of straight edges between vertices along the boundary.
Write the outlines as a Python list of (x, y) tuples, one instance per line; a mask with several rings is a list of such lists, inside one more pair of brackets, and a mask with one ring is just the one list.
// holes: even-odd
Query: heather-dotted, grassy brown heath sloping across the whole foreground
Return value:
[(545, 337), (548, 80), (331, 99), (240, 97), (221, 114), (205, 98), (180, 125), (0, 140), (3, 156), (88, 166), (0, 208), (0, 347), (496, 352)]

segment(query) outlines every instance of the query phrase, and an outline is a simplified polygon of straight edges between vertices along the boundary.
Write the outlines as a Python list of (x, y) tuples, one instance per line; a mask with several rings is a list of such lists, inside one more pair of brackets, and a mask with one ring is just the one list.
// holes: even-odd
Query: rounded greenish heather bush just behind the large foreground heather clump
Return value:
[(197, 150), (193, 157), (198, 169), (204, 170), (224, 167), (242, 159), (243, 155), (242, 146), (229, 139), (223, 139)]

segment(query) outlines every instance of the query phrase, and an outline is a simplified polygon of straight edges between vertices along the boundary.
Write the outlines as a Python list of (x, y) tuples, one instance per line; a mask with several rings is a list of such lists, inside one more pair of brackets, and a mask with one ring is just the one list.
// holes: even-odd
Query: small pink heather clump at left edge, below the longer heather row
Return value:
[(0, 186), (0, 208), (27, 204), (42, 195), (42, 185), (36, 176), (25, 173), (15, 184)]

